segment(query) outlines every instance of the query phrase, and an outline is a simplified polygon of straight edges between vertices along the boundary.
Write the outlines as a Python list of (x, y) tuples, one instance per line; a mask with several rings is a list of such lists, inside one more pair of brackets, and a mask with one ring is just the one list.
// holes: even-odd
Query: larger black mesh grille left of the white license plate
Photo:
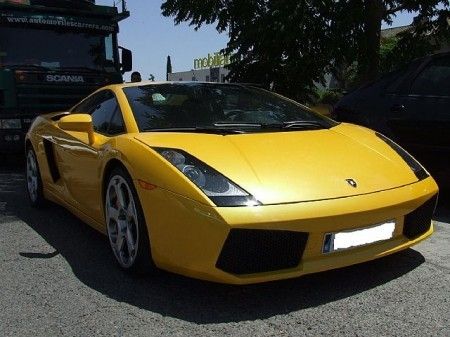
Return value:
[(233, 274), (252, 274), (299, 265), (308, 233), (232, 229), (216, 267)]

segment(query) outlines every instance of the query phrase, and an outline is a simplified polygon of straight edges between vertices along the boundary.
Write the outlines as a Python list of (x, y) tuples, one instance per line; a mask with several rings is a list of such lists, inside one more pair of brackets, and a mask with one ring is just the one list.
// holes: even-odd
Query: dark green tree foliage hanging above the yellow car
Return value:
[(392, 23), (400, 11), (419, 14), (412, 32), (402, 35), (392, 52), (405, 46), (414, 49), (414, 41), (423, 34), (428, 34), (422, 38), (426, 40), (430, 33), (448, 31), (443, 23), (449, 1), (166, 0), (161, 9), (176, 24), (188, 22), (195, 29), (215, 24), (229, 35), (225, 52), (234, 55), (231, 80), (273, 85), (287, 96), (305, 100), (327, 72), (339, 77), (357, 64), (359, 82), (374, 79), (380, 64), (381, 23)]

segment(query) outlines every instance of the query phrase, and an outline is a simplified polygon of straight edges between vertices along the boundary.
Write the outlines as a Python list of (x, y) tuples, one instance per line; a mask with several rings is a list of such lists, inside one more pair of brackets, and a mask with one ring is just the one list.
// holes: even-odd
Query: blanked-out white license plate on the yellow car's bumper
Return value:
[(337, 250), (355, 248), (370, 243), (389, 240), (394, 235), (395, 220), (360, 228), (352, 231), (327, 233), (323, 243), (323, 253), (332, 253)]

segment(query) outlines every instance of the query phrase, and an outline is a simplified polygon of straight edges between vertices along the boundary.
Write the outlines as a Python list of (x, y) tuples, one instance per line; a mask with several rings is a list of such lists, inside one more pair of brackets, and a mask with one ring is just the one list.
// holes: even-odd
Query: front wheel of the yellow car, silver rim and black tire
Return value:
[(124, 168), (114, 168), (107, 178), (104, 205), (106, 232), (116, 262), (131, 273), (154, 272), (141, 203)]

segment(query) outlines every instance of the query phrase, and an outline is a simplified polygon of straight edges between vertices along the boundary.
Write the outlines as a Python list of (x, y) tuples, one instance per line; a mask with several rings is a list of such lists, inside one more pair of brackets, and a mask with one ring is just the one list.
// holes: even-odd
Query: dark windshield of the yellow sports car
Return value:
[(243, 133), (336, 125), (294, 101), (247, 85), (164, 83), (123, 90), (140, 131)]

